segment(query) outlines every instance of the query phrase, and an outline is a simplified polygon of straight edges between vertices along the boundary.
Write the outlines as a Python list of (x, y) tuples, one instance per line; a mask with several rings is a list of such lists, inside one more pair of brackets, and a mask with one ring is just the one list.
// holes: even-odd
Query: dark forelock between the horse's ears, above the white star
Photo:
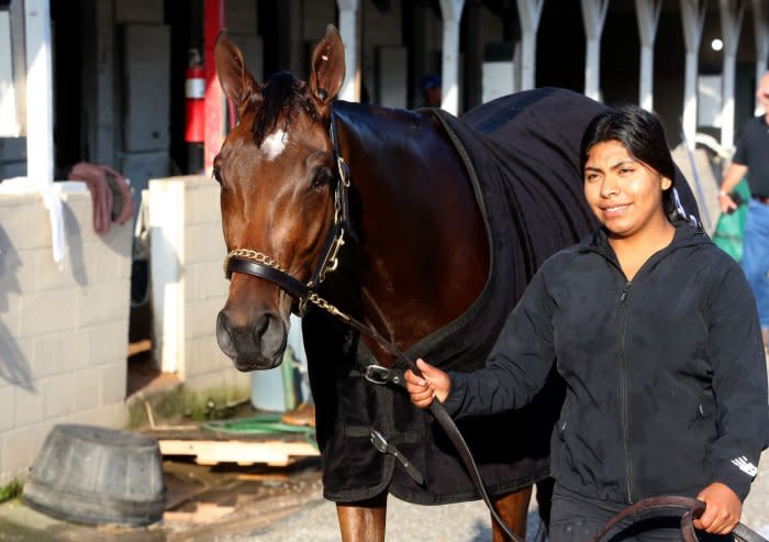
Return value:
[(261, 102), (257, 104), (252, 129), (254, 144), (261, 145), (265, 136), (275, 130), (281, 113), (288, 125), (301, 111), (317, 120), (317, 109), (307, 92), (307, 84), (294, 79), (289, 71), (271, 75), (261, 87)]

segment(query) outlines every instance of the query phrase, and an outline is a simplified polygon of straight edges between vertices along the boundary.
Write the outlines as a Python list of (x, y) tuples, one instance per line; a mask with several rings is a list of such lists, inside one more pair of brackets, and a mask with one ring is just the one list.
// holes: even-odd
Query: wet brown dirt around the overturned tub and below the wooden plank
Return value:
[(76, 524), (14, 500), (0, 505), (0, 541), (210, 542), (268, 526), (321, 500), (316, 457), (287, 467), (203, 466), (179, 457), (164, 461), (163, 467), (167, 505), (158, 524)]

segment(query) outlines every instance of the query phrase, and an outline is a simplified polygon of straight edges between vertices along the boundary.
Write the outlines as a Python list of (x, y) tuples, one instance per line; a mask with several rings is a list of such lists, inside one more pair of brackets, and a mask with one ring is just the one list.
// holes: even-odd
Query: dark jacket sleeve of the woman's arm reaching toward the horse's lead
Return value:
[(508, 317), (484, 368), (449, 373), (452, 387), (444, 405), (452, 416), (521, 408), (543, 387), (555, 360), (555, 302), (545, 283), (540, 268)]

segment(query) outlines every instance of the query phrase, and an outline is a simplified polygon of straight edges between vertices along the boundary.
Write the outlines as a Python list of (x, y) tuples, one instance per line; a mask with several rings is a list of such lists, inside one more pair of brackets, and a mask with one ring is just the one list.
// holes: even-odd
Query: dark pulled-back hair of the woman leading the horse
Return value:
[[(579, 168), (584, 172), (590, 150), (606, 141), (621, 143), (636, 161), (659, 172), (670, 180), (676, 180), (668, 140), (659, 118), (638, 106), (623, 106), (599, 114), (584, 130), (579, 151)], [(672, 187), (662, 195), (665, 212), (673, 218), (677, 212)]]

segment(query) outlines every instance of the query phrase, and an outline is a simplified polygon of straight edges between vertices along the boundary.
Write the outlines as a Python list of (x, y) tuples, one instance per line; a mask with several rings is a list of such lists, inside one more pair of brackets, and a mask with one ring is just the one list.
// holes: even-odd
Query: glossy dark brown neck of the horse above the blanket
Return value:
[(416, 113), (337, 102), (360, 240), (361, 305), (409, 346), (461, 314), (488, 274), (488, 239), (458, 154)]

